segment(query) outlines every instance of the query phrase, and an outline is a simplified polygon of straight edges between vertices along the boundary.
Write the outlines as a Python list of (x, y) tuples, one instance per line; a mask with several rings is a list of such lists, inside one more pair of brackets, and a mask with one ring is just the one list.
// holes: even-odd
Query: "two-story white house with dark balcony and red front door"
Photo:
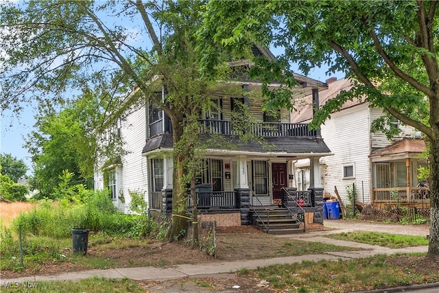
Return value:
[[(254, 47), (256, 55), (274, 59), (266, 48)], [(240, 66), (233, 62), (231, 66)], [(296, 98), (312, 95), (318, 101), (318, 92), (327, 84), (296, 75), (300, 83)], [(239, 84), (247, 92), (259, 91), (261, 82), (243, 78)], [(272, 88), (279, 86), (276, 82)], [(165, 94), (164, 91), (162, 93)], [(218, 94), (214, 99), (217, 108), (202, 113), (200, 132), (204, 135), (220, 134), (232, 142), (233, 148), (207, 150), (204, 167), (198, 176), (198, 210), (205, 217), (215, 215), (218, 226), (250, 224), (250, 209), (254, 206), (278, 204), (283, 201), (285, 189), (296, 191), (292, 164), (298, 159), (309, 159), (313, 173), (303, 204), (315, 213), (314, 221), (322, 223), (322, 187), (319, 161), (331, 151), (317, 130), (309, 130), (307, 123), (291, 123), (292, 113), (287, 109), (278, 115), (263, 113), (262, 105), (252, 95), (229, 97)], [(232, 115), (239, 111), (237, 104), (246, 104), (255, 122), (248, 131), (265, 139), (244, 143), (234, 136)], [(171, 213), (173, 139), (169, 117), (153, 104), (134, 111), (120, 127), (128, 154), (120, 160), (105, 162), (95, 175), (97, 189), (108, 188), (112, 199), (123, 211), (129, 212), (130, 192), (138, 192), (154, 213)], [(266, 146), (268, 145), (268, 147)], [(103, 165), (102, 162), (101, 165)], [(295, 194), (297, 195), (297, 194)], [(296, 203), (294, 203), (296, 207)]]

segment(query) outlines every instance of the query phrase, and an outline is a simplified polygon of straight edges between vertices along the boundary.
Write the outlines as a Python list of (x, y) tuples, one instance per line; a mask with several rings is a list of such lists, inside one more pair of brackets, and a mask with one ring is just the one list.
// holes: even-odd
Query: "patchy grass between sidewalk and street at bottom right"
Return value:
[(257, 277), (269, 281), (270, 286), (289, 292), (353, 292), (438, 280), (437, 270), (418, 272), (395, 266), (391, 261), (393, 257), (397, 256), (376, 255), (348, 261), (302, 261), (258, 268), (248, 271), (248, 274), (257, 274)]

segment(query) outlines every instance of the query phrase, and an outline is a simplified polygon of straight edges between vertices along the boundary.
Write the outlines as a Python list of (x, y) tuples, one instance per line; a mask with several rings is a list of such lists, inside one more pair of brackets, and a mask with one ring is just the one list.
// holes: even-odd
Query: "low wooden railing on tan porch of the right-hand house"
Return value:
[(372, 202), (425, 202), (430, 200), (429, 187), (374, 188)]

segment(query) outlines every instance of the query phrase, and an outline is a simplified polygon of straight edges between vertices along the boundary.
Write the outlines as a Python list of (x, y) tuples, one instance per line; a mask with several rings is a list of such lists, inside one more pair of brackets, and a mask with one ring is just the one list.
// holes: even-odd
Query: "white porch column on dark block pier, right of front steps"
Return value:
[(320, 156), (309, 158), (309, 188), (314, 213), (314, 223), (323, 224), (323, 187), (320, 183)]

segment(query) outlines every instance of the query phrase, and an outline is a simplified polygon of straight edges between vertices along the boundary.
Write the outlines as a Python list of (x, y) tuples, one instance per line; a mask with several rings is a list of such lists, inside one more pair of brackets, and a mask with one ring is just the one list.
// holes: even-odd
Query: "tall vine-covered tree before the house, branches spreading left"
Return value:
[[(185, 125), (209, 106), (213, 82), (200, 74), (194, 47), (200, 1), (28, 1), (1, 3), (2, 108), (40, 104), (104, 87), (110, 126), (126, 110), (146, 101), (170, 117), (174, 136), (173, 214), (169, 237), (183, 235), (187, 221), (187, 158), (196, 139)], [(165, 86), (162, 99), (154, 92)], [(126, 95), (137, 89), (134, 95)], [(111, 94), (110, 94), (111, 93)], [(193, 128), (192, 128), (193, 129)], [(185, 145), (186, 143), (186, 145)], [(193, 164), (192, 164), (193, 165)], [(196, 221), (195, 221), (196, 222)]]

